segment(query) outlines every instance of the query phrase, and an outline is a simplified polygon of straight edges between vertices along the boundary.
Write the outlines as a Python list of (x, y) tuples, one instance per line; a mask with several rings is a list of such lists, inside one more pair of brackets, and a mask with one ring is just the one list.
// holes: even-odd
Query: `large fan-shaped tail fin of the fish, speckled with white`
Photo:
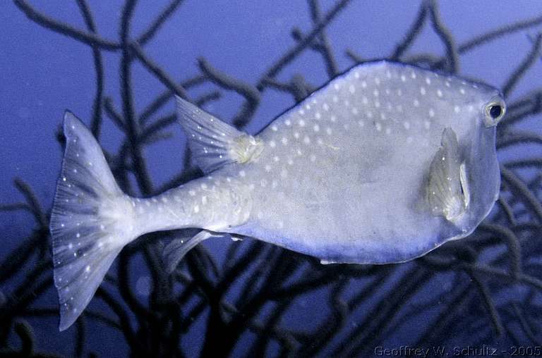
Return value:
[(100, 145), (71, 112), (64, 115), (64, 135), (50, 223), (60, 331), (76, 321), (116, 255), (138, 236), (131, 198), (116, 185)]

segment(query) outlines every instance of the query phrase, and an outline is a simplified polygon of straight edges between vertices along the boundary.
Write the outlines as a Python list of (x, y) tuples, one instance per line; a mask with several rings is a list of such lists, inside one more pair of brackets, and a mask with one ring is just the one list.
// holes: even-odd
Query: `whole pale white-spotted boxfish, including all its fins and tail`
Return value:
[(387, 264), (469, 235), (498, 197), (505, 103), (462, 78), (363, 63), (258, 135), (180, 98), (177, 108), (205, 175), (145, 199), (120, 190), (95, 138), (66, 112), (50, 224), (61, 330), (144, 233), (200, 229), (164, 249), (169, 271), (209, 237), (255, 237), (323, 263)]

